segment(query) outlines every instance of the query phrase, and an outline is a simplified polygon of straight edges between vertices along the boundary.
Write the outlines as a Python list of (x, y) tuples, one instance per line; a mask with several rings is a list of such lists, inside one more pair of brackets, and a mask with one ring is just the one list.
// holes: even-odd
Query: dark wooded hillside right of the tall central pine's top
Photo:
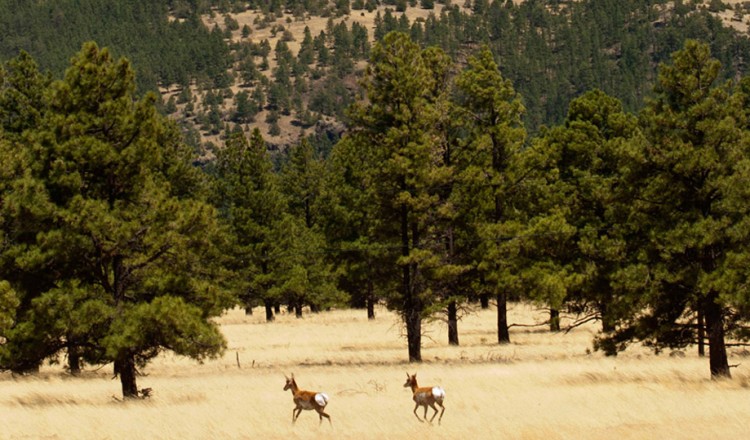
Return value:
[(750, 40), (713, 15), (721, 6), (699, 3), (467, 0), (460, 6), (470, 11), (454, 3), (412, 23), (386, 13), (376, 23), (375, 38), (406, 32), (422, 46), (439, 46), (457, 59), (488, 44), (503, 75), (524, 97), (527, 128), (535, 131), (561, 122), (568, 103), (594, 87), (619, 98), (628, 110), (640, 108), (659, 63), (686, 39), (709, 43), (723, 66), (722, 78), (747, 73)]

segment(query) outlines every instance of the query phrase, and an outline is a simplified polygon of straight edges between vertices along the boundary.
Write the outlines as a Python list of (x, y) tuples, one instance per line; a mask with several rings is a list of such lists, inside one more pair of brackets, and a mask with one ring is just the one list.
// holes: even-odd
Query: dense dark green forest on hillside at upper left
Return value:
[(133, 62), (141, 90), (191, 79), (222, 86), (230, 66), (223, 35), (203, 25), (197, 5), (181, 7), (180, 19), (170, 20), (172, 3), (0, 0), (0, 60), (25, 50), (60, 76), (70, 54), (93, 40)]

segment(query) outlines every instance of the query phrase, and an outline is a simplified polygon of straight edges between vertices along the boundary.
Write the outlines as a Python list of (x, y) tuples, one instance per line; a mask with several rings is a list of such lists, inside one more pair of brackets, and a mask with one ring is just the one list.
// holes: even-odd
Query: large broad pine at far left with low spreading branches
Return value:
[(203, 359), (224, 348), (208, 320), (231, 302), (207, 186), (155, 97), (134, 92), (127, 60), (85, 44), (10, 156), (27, 171), (11, 170), (3, 188), (13, 237), (0, 261), (21, 302), (2, 368), (33, 369), (66, 348), (72, 371), (114, 362), (135, 397), (136, 367), (160, 351)]

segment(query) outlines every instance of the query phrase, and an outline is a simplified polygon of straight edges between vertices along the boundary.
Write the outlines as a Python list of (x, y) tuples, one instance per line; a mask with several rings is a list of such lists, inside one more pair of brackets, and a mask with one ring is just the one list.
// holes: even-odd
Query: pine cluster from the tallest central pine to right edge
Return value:
[(553, 330), (561, 309), (601, 321), (607, 354), (707, 345), (711, 376), (730, 376), (727, 339), (750, 328), (747, 77), (722, 81), (710, 46), (688, 40), (637, 114), (593, 89), (527, 140), (522, 97), (488, 47), (456, 70), (387, 34), (332, 152), (352, 221), (342, 247), (370, 263), (375, 286), (360, 289), (401, 313), (409, 359), (421, 320), (447, 314), (458, 343), (457, 305), (490, 295), (500, 343), (506, 302), (526, 299)]

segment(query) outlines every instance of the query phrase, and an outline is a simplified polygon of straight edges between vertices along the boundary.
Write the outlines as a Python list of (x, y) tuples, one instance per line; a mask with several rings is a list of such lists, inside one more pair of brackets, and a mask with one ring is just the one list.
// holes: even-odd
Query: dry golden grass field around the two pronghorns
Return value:
[[(38, 376), (0, 374), (0, 439), (713, 439), (747, 438), (748, 352), (731, 351), (731, 381), (711, 381), (695, 349), (659, 356), (633, 347), (617, 358), (591, 352), (596, 324), (569, 333), (512, 327), (496, 344), (495, 311), (461, 320), (461, 345), (442, 322), (426, 326), (419, 365), (405, 362), (395, 315), (379, 310), (221, 318), (226, 354), (203, 364), (164, 355), (138, 378), (149, 399), (122, 402), (111, 365), (72, 378), (59, 366)], [(541, 322), (514, 305), (510, 321)], [(565, 324), (565, 322), (563, 322)], [(445, 388), (441, 425), (420, 423), (406, 372)], [(284, 375), (325, 391), (333, 426), (313, 411), (292, 424)], [(421, 416), (422, 410), (420, 408)], [(432, 410), (428, 416), (432, 414)], [(322, 437), (323, 436), (323, 437)]]

